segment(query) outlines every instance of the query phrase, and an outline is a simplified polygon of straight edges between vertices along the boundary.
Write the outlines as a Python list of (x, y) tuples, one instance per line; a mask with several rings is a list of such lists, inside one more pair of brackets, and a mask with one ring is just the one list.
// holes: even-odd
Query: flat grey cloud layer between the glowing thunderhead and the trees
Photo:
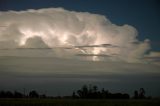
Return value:
[(47, 94), (70, 95), (83, 84), (121, 90), (131, 95), (135, 89), (145, 88), (147, 95), (160, 95), (160, 66), (92, 62), (50, 57), (0, 57), (0, 89), (20, 91), (36, 89)]

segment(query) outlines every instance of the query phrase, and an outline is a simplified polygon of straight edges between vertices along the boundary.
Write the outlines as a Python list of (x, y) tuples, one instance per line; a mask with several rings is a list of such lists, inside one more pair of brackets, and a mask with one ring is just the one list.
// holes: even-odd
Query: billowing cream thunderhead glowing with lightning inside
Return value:
[(88, 12), (62, 8), (0, 12), (1, 51), (52, 48), (46, 55), (143, 62), (150, 42), (139, 41), (137, 36), (133, 26), (118, 26), (103, 15)]

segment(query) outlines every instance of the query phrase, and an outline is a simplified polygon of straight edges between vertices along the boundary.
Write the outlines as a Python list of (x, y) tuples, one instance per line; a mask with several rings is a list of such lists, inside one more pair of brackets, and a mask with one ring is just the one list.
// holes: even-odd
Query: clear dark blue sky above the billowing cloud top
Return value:
[(0, 11), (63, 7), (73, 11), (102, 14), (114, 24), (129, 24), (138, 39), (151, 40), (154, 51), (160, 48), (159, 0), (0, 0)]

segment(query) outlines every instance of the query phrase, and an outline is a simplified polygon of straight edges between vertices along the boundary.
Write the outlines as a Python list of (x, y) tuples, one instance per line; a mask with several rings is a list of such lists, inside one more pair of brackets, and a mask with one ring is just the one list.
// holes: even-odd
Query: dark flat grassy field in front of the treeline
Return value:
[(160, 100), (0, 99), (0, 106), (160, 106)]

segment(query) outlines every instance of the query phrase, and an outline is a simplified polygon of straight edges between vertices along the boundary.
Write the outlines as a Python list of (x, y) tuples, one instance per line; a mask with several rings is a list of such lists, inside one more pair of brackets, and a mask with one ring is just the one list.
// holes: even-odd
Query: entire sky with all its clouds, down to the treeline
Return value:
[(0, 90), (160, 96), (159, 69), (160, 0), (0, 0)]

